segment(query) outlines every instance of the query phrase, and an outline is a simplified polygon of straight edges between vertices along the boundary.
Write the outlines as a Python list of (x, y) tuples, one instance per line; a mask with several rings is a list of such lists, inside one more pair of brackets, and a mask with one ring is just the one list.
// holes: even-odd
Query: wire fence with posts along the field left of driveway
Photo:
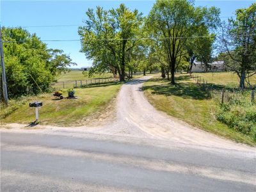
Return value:
[(113, 77), (95, 78), (95, 79), (86, 79), (86, 80), (60, 81), (57, 83), (52, 83), (51, 86), (54, 90), (61, 90), (65, 88), (82, 88), (84, 86), (89, 86), (92, 84), (111, 83), (114, 81), (118, 81), (118, 79)]

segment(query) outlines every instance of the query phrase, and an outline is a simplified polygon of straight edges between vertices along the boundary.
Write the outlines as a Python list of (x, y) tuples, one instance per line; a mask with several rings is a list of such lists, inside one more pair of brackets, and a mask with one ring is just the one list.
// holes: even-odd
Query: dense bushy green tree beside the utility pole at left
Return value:
[(74, 64), (69, 56), (60, 50), (47, 49), (38, 36), (25, 29), (2, 28), (1, 32), (10, 98), (46, 92), (56, 75)]

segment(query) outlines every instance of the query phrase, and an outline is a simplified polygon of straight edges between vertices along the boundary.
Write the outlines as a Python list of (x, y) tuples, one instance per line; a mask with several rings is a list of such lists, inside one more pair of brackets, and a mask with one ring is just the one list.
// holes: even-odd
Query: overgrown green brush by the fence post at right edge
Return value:
[(256, 141), (256, 104), (246, 99), (230, 97), (228, 102), (219, 105), (216, 118)]

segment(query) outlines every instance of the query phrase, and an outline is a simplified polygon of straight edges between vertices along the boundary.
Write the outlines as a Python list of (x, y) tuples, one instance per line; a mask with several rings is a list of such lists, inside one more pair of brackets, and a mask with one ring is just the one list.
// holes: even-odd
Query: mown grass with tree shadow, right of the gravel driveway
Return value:
[[(204, 75), (211, 76), (211, 74)], [(225, 76), (224, 73), (214, 75)], [(143, 84), (143, 90), (148, 101), (156, 109), (168, 115), (225, 138), (256, 145), (252, 137), (236, 132), (216, 120), (217, 104), (211, 99), (211, 92), (197, 86), (188, 74), (177, 74), (176, 83), (177, 85), (172, 86), (166, 80), (152, 79)], [(225, 84), (225, 78), (223, 77), (223, 80), (219, 78), (217, 83)]]

